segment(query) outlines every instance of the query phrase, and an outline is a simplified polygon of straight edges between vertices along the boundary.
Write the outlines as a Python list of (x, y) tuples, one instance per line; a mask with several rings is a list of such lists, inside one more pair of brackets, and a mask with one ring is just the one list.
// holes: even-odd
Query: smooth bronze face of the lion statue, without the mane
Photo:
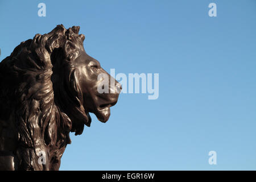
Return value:
[[(84, 51), (75, 59), (77, 65), (76, 77), (82, 92), (83, 106), (86, 113), (94, 113), (98, 120), (106, 122), (110, 116), (110, 107), (117, 103), (119, 92), (122, 87), (119, 82), (114, 80), (103, 68), (100, 63), (87, 55)], [(98, 79), (100, 74), (108, 77), (109, 92), (99, 93), (98, 87), (103, 85), (103, 79)], [(110, 85), (113, 79), (114, 86)]]

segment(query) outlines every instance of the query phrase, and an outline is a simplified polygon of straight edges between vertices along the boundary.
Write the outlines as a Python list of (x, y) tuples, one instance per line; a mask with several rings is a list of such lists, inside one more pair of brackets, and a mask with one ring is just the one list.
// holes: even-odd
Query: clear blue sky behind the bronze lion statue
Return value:
[(61, 23), (81, 27), (106, 71), (159, 73), (158, 100), (121, 94), (107, 123), (91, 114), (61, 170), (256, 169), (255, 0), (1, 0), (0, 60)]

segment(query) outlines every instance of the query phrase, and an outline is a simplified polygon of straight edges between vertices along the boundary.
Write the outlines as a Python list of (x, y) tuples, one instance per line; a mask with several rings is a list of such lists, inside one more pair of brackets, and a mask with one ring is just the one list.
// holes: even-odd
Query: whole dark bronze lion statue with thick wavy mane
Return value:
[(89, 113), (108, 121), (122, 88), (114, 80), (112, 92), (97, 92), (98, 75), (114, 78), (86, 54), (79, 30), (36, 34), (0, 63), (1, 170), (58, 170), (69, 132), (82, 134)]

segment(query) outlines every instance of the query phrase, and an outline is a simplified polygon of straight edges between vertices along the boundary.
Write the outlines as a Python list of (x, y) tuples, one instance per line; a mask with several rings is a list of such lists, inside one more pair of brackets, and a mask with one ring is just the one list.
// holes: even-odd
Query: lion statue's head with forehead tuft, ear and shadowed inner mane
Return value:
[(69, 28), (65, 32), (67, 40), (63, 47), (52, 52), (51, 81), (53, 93), (59, 96), (55, 98), (56, 104), (72, 118), (72, 131), (81, 134), (84, 125), (90, 126), (89, 113), (94, 113), (102, 122), (108, 121), (110, 107), (117, 103), (121, 85), (115, 81), (114, 88), (109, 85), (110, 92), (97, 91), (103, 81), (98, 79), (100, 74), (108, 75), (109, 80), (112, 77), (101, 68), (96, 59), (86, 54), (82, 44), (85, 37), (82, 34), (78, 35), (78, 32), (79, 27)]

